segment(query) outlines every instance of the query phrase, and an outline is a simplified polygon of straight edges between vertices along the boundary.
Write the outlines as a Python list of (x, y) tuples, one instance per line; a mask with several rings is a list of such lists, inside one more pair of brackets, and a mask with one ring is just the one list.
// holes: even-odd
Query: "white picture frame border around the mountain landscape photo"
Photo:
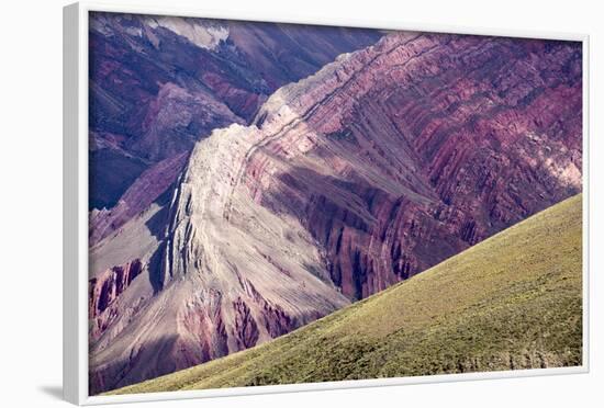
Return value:
[[(583, 363), (581, 366), (448, 374), (421, 377), (343, 381), (320, 384), (255, 386), (225, 389), (170, 392), (138, 395), (88, 395), (88, 15), (89, 12), (178, 15), (246, 21), (344, 25), (383, 30), (446, 32), (508, 37), (566, 39), (582, 43), (583, 48)], [(422, 383), (477, 381), (536, 375), (589, 372), (589, 36), (540, 32), (497, 31), (490, 29), (413, 25), (404, 22), (350, 21), (337, 16), (298, 18), (262, 12), (255, 15), (174, 7), (78, 2), (64, 8), (64, 396), (77, 405), (241, 396), (265, 393), (294, 393)]]

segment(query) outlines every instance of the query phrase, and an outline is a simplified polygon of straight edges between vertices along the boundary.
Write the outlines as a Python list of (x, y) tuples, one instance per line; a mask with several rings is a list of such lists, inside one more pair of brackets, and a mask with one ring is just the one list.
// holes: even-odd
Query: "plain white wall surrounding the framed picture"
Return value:
[[(143, 0), (139, 3), (145, 3)], [(152, 2), (149, 2), (152, 3)], [(153, 3), (161, 4), (155, 0)], [(444, 24), (591, 35), (591, 365), (590, 374), (266, 395), (154, 407), (579, 407), (604, 393), (603, 183), (601, 114), (604, 33), (597, 1), (220, 0), (181, 7), (401, 24)], [(61, 386), (61, 7), (65, 0), (3, 3), (0, 23), (0, 406), (65, 406)], [(600, 238), (600, 239), (599, 239)]]

